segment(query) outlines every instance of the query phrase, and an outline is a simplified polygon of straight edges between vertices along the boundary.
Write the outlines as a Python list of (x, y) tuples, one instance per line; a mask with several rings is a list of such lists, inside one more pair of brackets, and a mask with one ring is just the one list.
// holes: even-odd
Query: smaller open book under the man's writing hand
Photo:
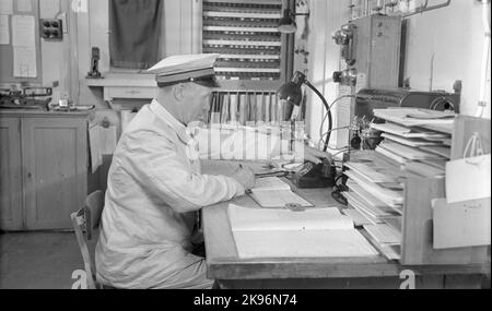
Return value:
[(284, 207), (286, 204), (298, 204), (303, 207), (313, 206), (313, 204), (292, 192), (291, 187), (278, 177), (256, 179), (250, 195), (262, 207)]

